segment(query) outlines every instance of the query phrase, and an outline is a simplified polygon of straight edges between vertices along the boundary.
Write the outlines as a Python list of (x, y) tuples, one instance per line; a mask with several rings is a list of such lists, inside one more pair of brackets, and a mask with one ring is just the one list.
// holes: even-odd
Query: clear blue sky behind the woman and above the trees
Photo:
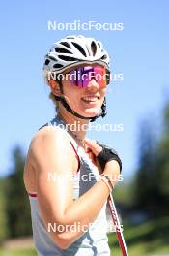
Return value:
[[(169, 90), (168, 1), (4, 1), (1, 8), (0, 176), (12, 167), (12, 149), (27, 151), (31, 138), (54, 116), (42, 79), (45, 53), (53, 42), (81, 34), (102, 41), (111, 56), (114, 81), (107, 95), (108, 114), (97, 121), (123, 124), (123, 132), (91, 132), (112, 145), (123, 160), (124, 175), (137, 167), (139, 123), (146, 116), (158, 124)], [(47, 22), (123, 23), (123, 31), (48, 30)], [(159, 125), (160, 129), (160, 125)]]

